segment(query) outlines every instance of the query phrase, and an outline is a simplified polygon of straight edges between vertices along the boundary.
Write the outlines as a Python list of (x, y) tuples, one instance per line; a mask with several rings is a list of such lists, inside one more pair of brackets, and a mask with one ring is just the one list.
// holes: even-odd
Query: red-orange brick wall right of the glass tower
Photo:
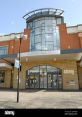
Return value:
[(59, 31), (61, 45), (60, 47), (62, 50), (81, 48), (78, 34), (67, 34), (66, 24), (59, 25)]

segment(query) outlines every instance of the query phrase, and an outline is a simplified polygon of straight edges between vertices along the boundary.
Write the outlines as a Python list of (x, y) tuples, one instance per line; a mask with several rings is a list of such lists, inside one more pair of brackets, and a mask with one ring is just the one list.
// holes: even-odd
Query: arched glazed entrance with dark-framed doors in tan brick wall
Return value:
[(62, 71), (52, 66), (37, 66), (26, 71), (28, 89), (62, 89)]

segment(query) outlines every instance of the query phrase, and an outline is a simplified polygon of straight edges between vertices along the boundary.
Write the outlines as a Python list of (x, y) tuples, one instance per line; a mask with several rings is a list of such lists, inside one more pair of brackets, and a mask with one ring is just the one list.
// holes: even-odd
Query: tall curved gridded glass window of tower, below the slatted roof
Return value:
[(61, 18), (43, 17), (30, 22), (32, 25), (31, 51), (51, 51), (60, 48), (59, 29), (56, 23), (61, 23)]

